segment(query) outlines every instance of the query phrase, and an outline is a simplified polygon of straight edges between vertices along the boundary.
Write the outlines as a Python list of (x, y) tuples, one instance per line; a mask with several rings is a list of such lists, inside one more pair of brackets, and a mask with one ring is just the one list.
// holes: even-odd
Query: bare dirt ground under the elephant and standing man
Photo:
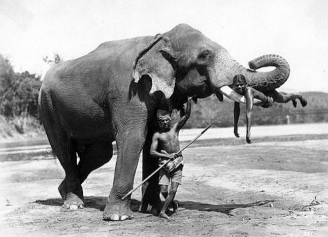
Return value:
[(0, 235), (327, 236), (328, 134), (236, 140), (202, 140), (185, 150), (179, 215), (171, 222), (138, 212), (141, 190), (132, 195), (134, 219), (103, 221), (116, 157), (90, 174), (86, 208), (75, 212), (60, 209), (64, 173), (56, 159), (2, 162)]

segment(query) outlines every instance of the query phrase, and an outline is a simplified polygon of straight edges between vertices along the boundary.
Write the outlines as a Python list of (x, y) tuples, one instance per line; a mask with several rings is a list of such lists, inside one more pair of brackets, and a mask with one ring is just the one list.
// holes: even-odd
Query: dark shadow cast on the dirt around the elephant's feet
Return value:
[[(87, 196), (84, 198), (85, 207), (98, 209), (100, 211), (104, 211), (107, 197), (99, 197), (99, 196)], [(204, 204), (202, 202), (194, 202), (194, 201), (179, 201), (180, 208), (188, 209), (188, 210), (198, 210), (198, 211), (206, 211), (206, 212), (220, 212), (226, 215), (232, 215), (230, 212), (237, 208), (248, 208), (248, 207), (258, 207), (268, 204), (269, 202), (273, 202), (274, 200), (263, 200), (251, 202), (249, 204)], [(46, 200), (36, 200), (35, 203), (47, 206), (61, 206), (63, 204), (63, 200), (61, 198), (49, 198)], [(140, 201), (137, 199), (131, 200), (131, 210), (133, 212), (138, 212), (140, 206)]]

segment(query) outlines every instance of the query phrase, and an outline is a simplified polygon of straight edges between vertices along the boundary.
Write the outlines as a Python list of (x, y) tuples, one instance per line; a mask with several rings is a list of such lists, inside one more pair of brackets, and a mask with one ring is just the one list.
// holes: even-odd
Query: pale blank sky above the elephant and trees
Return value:
[(16, 72), (44, 75), (45, 56), (70, 60), (187, 23), (246, 67), (284, 57), (291, 72), (280, 91), (328, 92), (327, 13), (326, 0), (0, 0), (0, 54)]

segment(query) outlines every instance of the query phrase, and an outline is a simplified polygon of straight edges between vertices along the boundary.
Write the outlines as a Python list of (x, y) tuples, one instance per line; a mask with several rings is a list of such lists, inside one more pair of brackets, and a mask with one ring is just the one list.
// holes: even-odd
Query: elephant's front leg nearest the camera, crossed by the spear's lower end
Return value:
[(140, 130), (125, 131), (117, 137), (114, 183), (104, 210), (104, 220), (123, 221), (133, 218), (130, 197), (124, 200), (122, 197), (133, 189), (140, 152), (145, 142), (144, 129)]

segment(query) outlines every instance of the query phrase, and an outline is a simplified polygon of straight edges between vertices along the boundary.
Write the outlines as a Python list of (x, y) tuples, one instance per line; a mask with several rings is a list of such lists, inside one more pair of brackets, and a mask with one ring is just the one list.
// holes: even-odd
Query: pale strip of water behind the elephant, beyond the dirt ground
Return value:
[[(203, 129), (182, 129), (180, 132), (180, 142), (191, 141)], [(245, 127), (240, 127), (240, 134), (245, 136)], [(263, 136), (288, 136), (290, 134), (328, 134), (328, 123), (304, 123), (276, 126), (253, 126), (252, 137)], [(210, 128), (198, 140), (208, 139), (236, 139), (233, 134), (233, 128)], [(116, 146), (113, 143), (114, 154)], [(20, 160), (40, 160), (55, 159), (48, 140), (0, 143), (0, 162), (20, 161)]]

